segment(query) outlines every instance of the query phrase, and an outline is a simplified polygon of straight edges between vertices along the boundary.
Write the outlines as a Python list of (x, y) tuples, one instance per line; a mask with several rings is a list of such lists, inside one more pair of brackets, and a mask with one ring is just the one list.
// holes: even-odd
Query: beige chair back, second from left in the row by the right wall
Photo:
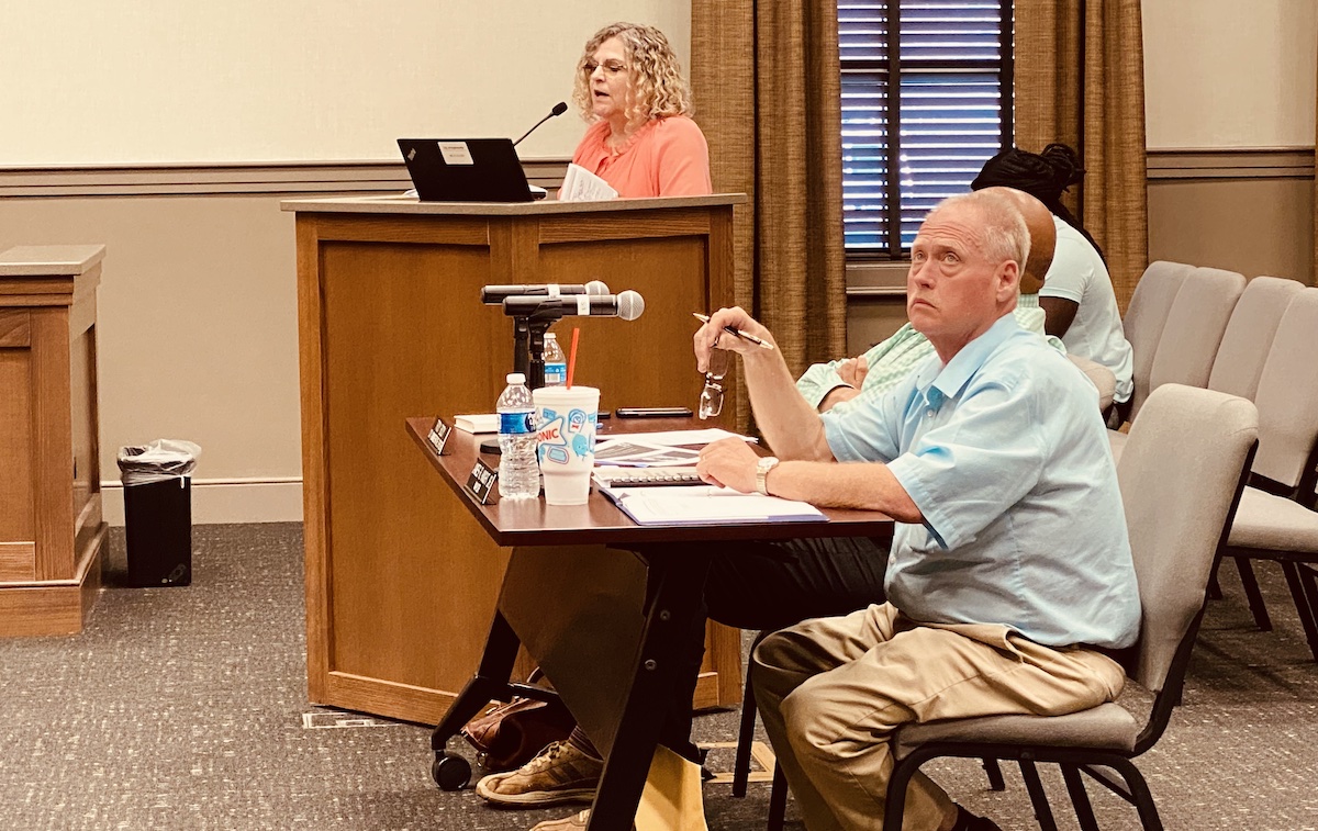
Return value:
[(1209, 386), (1222, 333), (1244, 291), (1244, 275), (1195, 269), (1176, 294), (1149, 371), (1149, 392), (1164, 383)]

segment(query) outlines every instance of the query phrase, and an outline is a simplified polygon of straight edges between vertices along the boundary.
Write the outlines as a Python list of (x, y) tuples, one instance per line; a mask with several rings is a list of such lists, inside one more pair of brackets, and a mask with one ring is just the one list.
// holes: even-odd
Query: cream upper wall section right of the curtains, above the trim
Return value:
[(1151, 149), (1314, 145), (1315, 0), (1144, 0)]

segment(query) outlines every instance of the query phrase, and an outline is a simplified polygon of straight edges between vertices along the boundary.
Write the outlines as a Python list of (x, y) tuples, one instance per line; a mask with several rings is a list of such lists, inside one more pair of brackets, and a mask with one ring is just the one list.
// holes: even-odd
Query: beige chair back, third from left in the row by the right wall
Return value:
[(1278, 277), (1249, 281), (1222, 333), (1209, 375), (1210, 390), (1253, 400), (1281, 315), (1304, 287), (1304, 283)]

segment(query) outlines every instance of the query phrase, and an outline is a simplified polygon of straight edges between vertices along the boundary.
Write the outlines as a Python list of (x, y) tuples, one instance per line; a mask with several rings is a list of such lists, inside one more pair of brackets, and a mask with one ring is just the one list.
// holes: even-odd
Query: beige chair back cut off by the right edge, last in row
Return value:
[(1259, 377), (1259, 454), (1253, 471), (1300, 483), (1318, 440), (1318, 288), (1297, 292), (1277, 324)]

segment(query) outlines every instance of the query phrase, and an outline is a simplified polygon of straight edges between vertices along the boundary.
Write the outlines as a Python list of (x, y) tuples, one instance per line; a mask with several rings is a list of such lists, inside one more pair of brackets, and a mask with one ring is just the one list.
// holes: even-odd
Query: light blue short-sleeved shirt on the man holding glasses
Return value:
[(867, 407), (822, 415), (840, 462), (884, 461), (924, 515), (898, 523), (888, 601), (1052, 647), (1128, 647), (1140, 602), (1093, 385), (1004, 315)]

